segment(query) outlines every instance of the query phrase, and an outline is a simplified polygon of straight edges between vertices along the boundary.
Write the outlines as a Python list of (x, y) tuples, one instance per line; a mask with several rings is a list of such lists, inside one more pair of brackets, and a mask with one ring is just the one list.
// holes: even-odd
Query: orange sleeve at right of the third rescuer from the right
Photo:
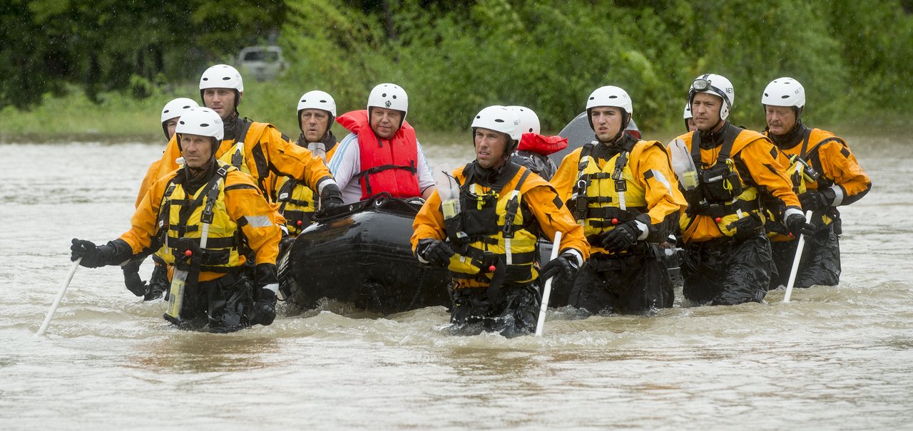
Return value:
[[(656, 142), (641, 148), (643, 150), (640, 154), (631, 154), (631, 171), (635, 180), (644, 185), (650, 224), (658, 225), (666, 221), (669, 214), (687, 208), (687, 200), (678, 188), (678, 180), (672, 170), (672, 161), (662, 144)], [(645, 240), (649, 231), (644, 228), (648, 227), (639, 225), (638, 227), (643, 233), (637, 239)]]

